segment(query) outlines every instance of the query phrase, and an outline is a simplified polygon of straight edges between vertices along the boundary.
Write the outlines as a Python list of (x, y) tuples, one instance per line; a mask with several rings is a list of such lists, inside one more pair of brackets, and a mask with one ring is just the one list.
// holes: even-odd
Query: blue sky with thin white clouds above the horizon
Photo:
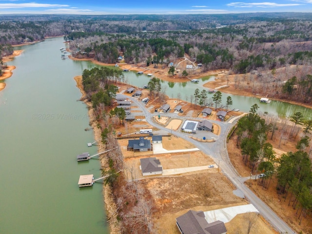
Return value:
[(312, 0), (0, 0), (0, 14), (226, 14), (312, 12)]

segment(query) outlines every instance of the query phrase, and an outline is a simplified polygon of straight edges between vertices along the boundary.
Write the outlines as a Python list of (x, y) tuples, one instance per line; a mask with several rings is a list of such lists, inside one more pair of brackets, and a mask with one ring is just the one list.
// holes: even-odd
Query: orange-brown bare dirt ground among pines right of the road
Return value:
[[(273, 140), (268, 140), (274, 148), (277, 149), (277, 157), (280, 156), (284, 152), (295, 152), (295, 144), (296, 139), (292, 141), (283, 141), (281, 147), (278, 147), (280, 136), (276, 133)], [(236, 147), (236, 137), (235, 135), (230, 138), (229, 142), (227, 143), (228, 153), (231, 159), (232, 164), (234, 165), (236, 171), (242, 177), (250, 176), (250, 168), (245, 166), (242, 162), (241, 152), (240, 149)], [(301, 225), (299, 225), (299, 219), (296, 215), (297, 210), (293, 209), (292, 206), (288, 206), (290, 195), (288, 195), (286, 201), (283, 196), (277, 194), (276, 185), (277, 179), (273, 176), (272, 181), (270, 182), (270, 186), (268, 189), (263, 189), (261, 185), (258, 185), (256, 181), (249, 180), (246, 182), (247, 185), (254, 191), (254, 193), (260, 197), (266, 204), (268, 204), (275, 213), (279, 214), (279, 216), (286, 221), (293, 230), (297, 233), (302, 231), (303, 234), (311, 234), (312, 233), (312, 215), (307, 215), (307, 217), (302, 219)], [(292, 205), (292, 203), (291, 203)]]

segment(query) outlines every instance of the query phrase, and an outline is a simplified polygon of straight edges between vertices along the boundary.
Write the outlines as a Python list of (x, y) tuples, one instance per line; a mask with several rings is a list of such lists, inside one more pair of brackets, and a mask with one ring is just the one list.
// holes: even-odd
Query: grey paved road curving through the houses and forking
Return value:
[[(146, 108), (145, 104), (141, 101), (138, 101), (137, 98), (125, 96), (126, 98), (129, 98), (133, 102), (136, 103), (136, 105), (143, 111), (143, 114), (145, 116), (146, 121), (151, 124), (152, 126), (166, 131), (166, 132), (172, 132), (172, 134), (175, 134), (177, 137), (181, 137), (187, 141), (192, 142), (195, 147), (200, 149), (203, 153), (210, 155), (214, 158), (215, 163), (219, 165), (220, 169), (222, 170), (222, 173), (227, 176), (231, 182), (236, 186), (237, 189), (241, 190), (243, 194), (245, 195), (245, 198), (249, 200), (250, 203), (254, 205), (254, 207), (259, 211), (259, 213), (269, 222), (272, 224), (272, 226), (275, 228), (276, 231), (279, 233), (281, 232), (288, 232), (289, 234), (292, 234), (292, 229), (278, 216), (276, 215), (273, 210), (267, 206), (261, 199), (259, 199), (254, 193), (244, 184), (245, 179), (241, 178), (234, 169), (232, 163), (230, 162), (230, 158), (226, 149), (226, 136), (231, 130), (231, 127), (235, 124), (237, 121), (237, 118), (234, 119), (234, 121), (230, 122), (217, 122), (219, 126), (221, 126), (221, 133), (219, 135), (218, 140), (215, 142), (198, 142), (192, 138), (190, 138), (188, 135), (181, 133), (179, 131), (172, 131), (170, 129), (167, 129), (161, 125), (158, 125), (156, 122), (153, 121), (154, 116), (158, 115), (164, 115), (169, 117), (177, 117), (177, 114), (174, 113), (150, 113)], [(179, 118), (183, 118), (180, 117)], [(192, 118), (193, 119), (193, 118)], [(210, 120), (211, 122), (214, 122), (213, 120)]]

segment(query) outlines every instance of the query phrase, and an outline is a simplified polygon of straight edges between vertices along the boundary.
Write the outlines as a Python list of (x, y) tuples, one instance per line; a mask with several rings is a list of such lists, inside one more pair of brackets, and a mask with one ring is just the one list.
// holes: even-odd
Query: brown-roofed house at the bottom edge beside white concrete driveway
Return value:
[(222, 221), (208, 223), (202, 211), (188, 211), (176, 218), (176, 226), (181, 234), (226, 234)]

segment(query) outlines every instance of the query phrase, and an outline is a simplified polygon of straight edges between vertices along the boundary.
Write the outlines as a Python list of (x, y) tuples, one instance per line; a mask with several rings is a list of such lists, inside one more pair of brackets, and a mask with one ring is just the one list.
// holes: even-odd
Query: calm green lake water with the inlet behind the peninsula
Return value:
[[(83, 152), (97, 153), (81, 94), (73, 79), (84, 69), (95, 67), (86, 61), (62, 60), (62, 38), (46, 39), (23, 46), (24, 52), (8, 65), (13, 76), (0, 92), (0, 233), (1, 234), (108, 234), (102, 197), (102, 184), (79, 189), (80, 175), (100, 177), (100, 164), (94, 158), (77, 163)], [(17, 48), (20, 49), (20, 48)], [(129, 84), (143, 87), (149, 77), (124, 73)], [(195, 89), (214, 77), (191, 82), (162, 81), (171, 98), (180, 93), (190, 97)], [(187, 94), (187, 95), (185, 95)], [(310, 109), (257, 98), (223, 94), (233, 98), (232, 108), (248, 112), (254, 103), (260, 111), (289, 117), (300, 111), (311, 117)], [(211, 98), (210, 95), (209, 98)], [(209, 99), (208, 98), (208, 99)]]

